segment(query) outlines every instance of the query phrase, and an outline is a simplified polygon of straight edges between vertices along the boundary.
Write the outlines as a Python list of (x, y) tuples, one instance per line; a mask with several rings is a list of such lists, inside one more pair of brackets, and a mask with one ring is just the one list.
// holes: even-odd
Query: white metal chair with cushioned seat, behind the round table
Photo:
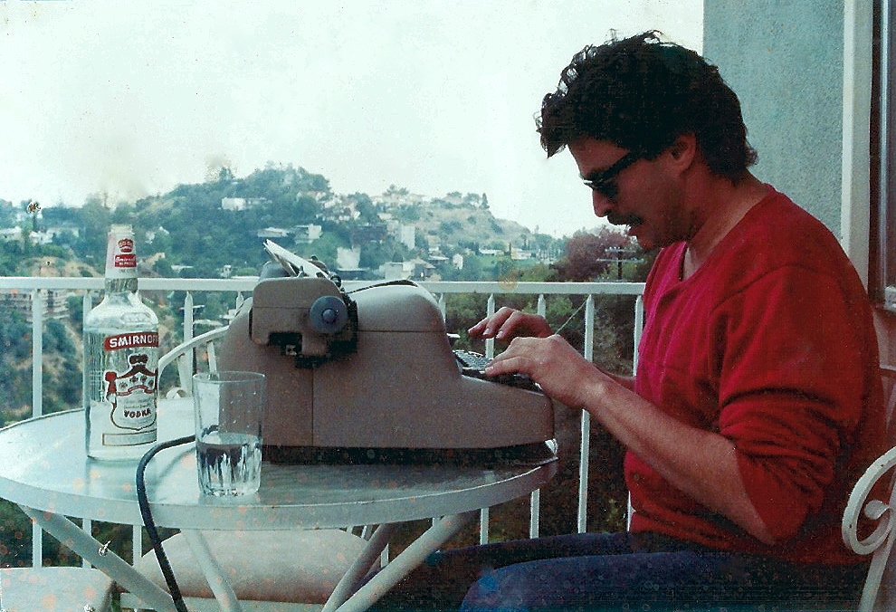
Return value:
[[(217, 370), (214, 340), (226, 331), (226, 327), (206, 331), (158, 359), (159, 376), (169, 364), (176, 361), (178, 366), (179, 386), (168, 390), (167, 397), (192, 395), (194, 349), (204, 347), (208, 370)], [(243, 609), (260, 612), (300, 610), (326, 603), (338, 580), (367, 543), (361, 536), (343, 530), (205, 531), (203, 535), (211, 557), (224, 569)], [(218, 609), (185, 534), (168, 538), (163, 547), (187, 605), (195, 610)], [(134, 565), (167, 590), (155, 551)], [(142, 609), (128, 593), (121, 594), (121, 606)]]

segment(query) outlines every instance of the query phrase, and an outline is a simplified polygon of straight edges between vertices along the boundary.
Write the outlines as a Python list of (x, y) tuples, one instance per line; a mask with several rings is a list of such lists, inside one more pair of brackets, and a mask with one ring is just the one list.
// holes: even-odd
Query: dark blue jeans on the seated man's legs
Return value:
[(798, 566), (653, 534), (581, 533), (436, 553), (375, 609), (854, 609), (866, 569)]

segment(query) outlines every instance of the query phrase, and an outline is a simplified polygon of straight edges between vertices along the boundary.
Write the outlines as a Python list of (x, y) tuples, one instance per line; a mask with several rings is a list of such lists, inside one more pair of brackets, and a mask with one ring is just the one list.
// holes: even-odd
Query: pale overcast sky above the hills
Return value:
[(542, 232), (597, 225), (533, 115), (587, 43), (701, 49), (702, 0), (0, 0), (0, 198), (133, 200), (229, 166), (336, 193), (485, 193)]

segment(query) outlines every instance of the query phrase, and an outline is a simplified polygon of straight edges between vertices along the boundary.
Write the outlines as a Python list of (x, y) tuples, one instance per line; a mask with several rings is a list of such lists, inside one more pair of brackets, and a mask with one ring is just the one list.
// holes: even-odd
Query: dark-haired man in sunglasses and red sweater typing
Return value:
[(871, 309), (834, 236), (748, 172), (746, 131), (717, 69), (655, 33), (586, 47), (562, 72), (539, 120), (548, 156), (568, 148), (596, 215), (662, 248), (637, 374), (597, 368), (528, 313), (470, 333), (512, 339), (488, 374), (529, 375), (626, 446), (631, 531), (446, 552), (384, 605), (857, 600), (865, 568), (839, 521), (884, 449)]

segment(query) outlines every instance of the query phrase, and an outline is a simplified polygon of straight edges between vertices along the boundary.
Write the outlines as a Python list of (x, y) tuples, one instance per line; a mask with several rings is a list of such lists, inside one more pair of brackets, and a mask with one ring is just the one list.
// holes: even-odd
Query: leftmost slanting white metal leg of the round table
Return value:
[[(19, 507), (40, 525), (43, 531), (81, 555), (82, 559), (87, 560), (96, 569), (100, 569), (110, 579), (115, 580), (119, 586), (140, 598), (147, 607), (158, 612), (177, 612), (174, 601), (164, 589), (144, 577), (114, 552), (107, 551), (98, 540), (66, 517), (52, 512), (34, 510), (23, 505), (19, 505)], [(100, 549), (104, 551), (101, 554)]]

